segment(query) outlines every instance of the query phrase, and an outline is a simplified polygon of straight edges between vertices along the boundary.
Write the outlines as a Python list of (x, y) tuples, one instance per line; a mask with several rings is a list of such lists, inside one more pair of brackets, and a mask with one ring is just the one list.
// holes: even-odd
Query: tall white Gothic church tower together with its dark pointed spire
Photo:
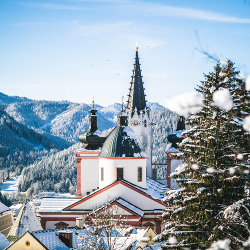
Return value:
[(128, 125), (141, 140), (143, 150), (148, 156), (147, 176), (152, 178), (152, 121), (144, 90), (137, 47), (126, 112)]

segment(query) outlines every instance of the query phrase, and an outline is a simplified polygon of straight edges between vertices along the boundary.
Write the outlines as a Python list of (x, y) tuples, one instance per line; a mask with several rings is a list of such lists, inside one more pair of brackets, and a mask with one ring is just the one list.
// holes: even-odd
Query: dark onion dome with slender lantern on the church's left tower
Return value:
[(97, 128), (97, 109), (94, 108), (94, 101), (92, 102), (93, 107), (89, 110), (89, 129), (84, 134), (79, 136), (79, 141), (83, 143), (83, 147), (88, 150), (96, 150), (102, 147), (107, 137), (98, 135)]

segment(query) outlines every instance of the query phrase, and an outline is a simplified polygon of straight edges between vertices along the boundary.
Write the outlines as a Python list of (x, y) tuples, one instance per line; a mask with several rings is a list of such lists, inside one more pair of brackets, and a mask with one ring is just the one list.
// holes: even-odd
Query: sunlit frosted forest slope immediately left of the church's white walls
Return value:
[(21, 191), (29, 195), (39, 191), (71, 192), (76, 190), (76, 151), (80, 143), (60, 151), (22, 171), (19, 184)]

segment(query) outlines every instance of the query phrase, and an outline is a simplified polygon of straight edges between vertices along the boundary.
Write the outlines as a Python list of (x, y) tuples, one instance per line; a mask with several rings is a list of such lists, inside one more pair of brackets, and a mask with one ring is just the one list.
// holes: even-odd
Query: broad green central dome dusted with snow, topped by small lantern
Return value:
[(119, 113), (118, 125), (103, 144), (99, 157), (146, 157), (140, 140), (128, 127), (128, 117), (124, 111)]

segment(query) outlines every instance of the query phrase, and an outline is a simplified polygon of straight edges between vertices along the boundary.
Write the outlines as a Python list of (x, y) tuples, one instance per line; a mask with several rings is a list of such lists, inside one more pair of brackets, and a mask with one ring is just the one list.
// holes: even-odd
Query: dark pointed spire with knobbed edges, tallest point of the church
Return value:
[(140, 63), (139, 63), (138, 47), (136, 47), (135, 63), (134, 63), (132, 81), (130, 84), (131, 85), (129, 88), (127, 112), (130, 111), (133, 116), (133, 114), (135, 113), (135, 109), (137, 109), (137, 114), (139, 115), (140, 111), (141, 110), (143, 111), (146, 107), (146, 98), (145, 98)]

